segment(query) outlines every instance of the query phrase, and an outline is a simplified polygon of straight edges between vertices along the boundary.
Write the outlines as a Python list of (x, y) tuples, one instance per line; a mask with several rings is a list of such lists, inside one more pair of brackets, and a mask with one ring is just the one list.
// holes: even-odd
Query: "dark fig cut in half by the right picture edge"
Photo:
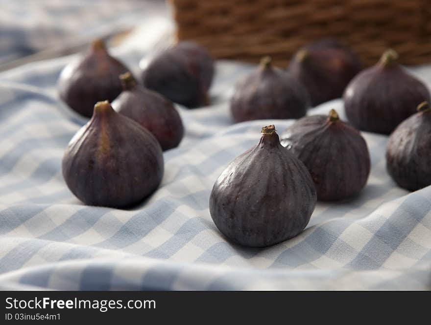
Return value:
[(398, 186), (416, 191), (431, 185), (431, 108), (428, 102), (389, 136), (386, 169)]

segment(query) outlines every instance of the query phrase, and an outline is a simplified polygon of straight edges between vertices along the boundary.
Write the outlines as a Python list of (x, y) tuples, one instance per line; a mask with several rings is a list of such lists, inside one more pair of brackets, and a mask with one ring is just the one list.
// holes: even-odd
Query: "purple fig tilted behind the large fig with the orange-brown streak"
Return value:
[(120, 80), (123, 91), (112, 102), (112, 107), (150, 131), (164, 151), (177, 147), (184, 127), (172, 102), (138, 85), (130, 72), (120, 75)]

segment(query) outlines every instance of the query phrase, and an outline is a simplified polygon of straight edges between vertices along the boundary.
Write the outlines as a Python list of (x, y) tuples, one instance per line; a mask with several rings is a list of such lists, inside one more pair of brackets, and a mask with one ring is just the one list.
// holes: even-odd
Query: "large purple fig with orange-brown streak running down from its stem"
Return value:
[(73, 136), (62, 162), (72, 193), (87, 205), (124, 208), (152, 194), (164, 172), (156, 138), (109, 102)]

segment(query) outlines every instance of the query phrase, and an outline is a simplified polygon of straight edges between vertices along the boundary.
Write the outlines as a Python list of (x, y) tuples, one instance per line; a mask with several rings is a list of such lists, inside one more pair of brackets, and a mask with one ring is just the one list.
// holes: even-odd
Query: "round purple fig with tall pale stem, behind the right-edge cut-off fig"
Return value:
[(394, 50), (383, 53), (379, 63), (360, 72), (347, 86), (343, 99), (348, 120), (358, 129), (389, 134), (430, 92), (397, 63)]

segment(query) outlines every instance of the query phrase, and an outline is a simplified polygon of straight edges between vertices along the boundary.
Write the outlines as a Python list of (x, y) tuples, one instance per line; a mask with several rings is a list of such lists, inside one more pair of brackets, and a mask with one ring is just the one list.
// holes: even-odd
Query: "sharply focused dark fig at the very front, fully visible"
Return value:
[(233, 242), (264, 247), (298, 235), (310, 221), (316, 192), (304, 164), (280, 144), (273, 125), (259, 144), (237, 157), (216, 180), (210, 213)]

